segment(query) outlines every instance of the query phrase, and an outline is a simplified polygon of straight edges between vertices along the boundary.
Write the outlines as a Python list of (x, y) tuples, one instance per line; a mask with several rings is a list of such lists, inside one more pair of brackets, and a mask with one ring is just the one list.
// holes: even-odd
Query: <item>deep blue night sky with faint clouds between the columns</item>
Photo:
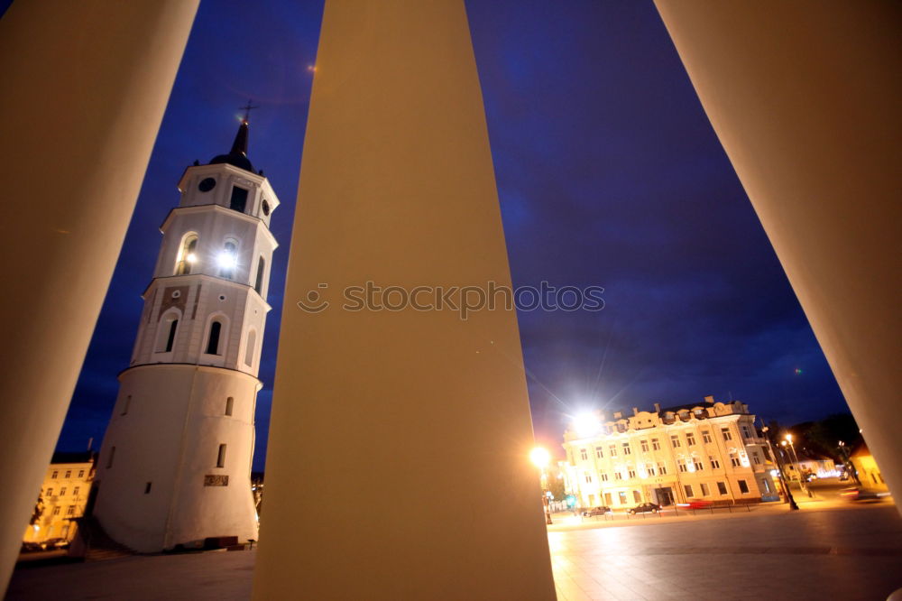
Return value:
[[(466, 6), (513, 281), (605, 289), (599, 312), (520, 312), (538, 439), (559, 453), (577, 411), (707, 394), (786, 423), (846, 411), (654, 5)], [(257, 409), (262, 469), (321, 16), (320, 2), (201, 3), (61, 450), (90, 437), (98, 448), (179, 177), (227, 152), (237, 107), (252, 98), (261, 108), (248, 155), (282, 202)]]

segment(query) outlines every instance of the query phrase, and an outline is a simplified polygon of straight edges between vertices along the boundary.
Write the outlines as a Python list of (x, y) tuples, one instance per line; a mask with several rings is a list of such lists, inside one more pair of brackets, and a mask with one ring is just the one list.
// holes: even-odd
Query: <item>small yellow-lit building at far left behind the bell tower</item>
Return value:
[(73, 519), (84, 515), (93, 479), (93, 453), (54, 453), (23, 541), (71, 541), (78, 527)]

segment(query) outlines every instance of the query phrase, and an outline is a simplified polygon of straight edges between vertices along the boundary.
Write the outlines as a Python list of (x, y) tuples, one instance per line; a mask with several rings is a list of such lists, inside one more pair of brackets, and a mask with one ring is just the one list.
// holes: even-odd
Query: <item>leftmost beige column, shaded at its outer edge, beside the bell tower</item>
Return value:
[(14, 2), (0, 20), (0, 473), (9, 479), (0, 587), (60, 434), (197, 6), (36, 0)]

